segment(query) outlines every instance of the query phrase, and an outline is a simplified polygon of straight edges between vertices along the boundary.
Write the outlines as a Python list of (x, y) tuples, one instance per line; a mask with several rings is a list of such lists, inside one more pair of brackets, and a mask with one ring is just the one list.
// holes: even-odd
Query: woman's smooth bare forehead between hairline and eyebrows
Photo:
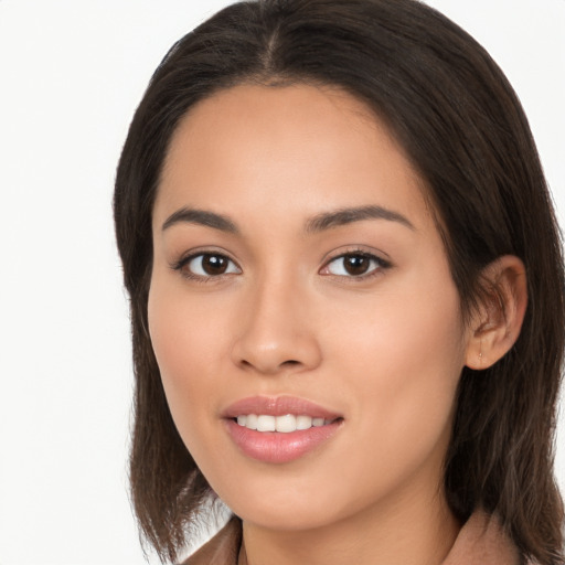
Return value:
[(249, 203), (291, 215), (324, 203), (427, 215), (422, 180), (376, 115), (341, 89), (311, 85), (239, 85), (180, 121), (156, 216), (185, 205), (237, 213)]

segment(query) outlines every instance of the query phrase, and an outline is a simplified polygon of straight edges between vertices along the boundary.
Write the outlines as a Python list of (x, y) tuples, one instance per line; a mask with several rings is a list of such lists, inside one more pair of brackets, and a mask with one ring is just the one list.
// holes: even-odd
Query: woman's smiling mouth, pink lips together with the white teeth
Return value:
[(343, 423), (340, 414), (291, 396), (244, 398), (222, 417), (244, 455), (270, 463), (290, 462), (317, 449)]

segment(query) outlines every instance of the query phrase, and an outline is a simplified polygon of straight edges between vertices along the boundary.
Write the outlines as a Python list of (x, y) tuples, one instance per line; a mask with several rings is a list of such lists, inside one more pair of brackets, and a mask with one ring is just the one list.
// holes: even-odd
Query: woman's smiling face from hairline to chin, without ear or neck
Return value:
[(468, 335), (424, 190), (337, 89), (233, 87), (173, 136), (150, 334), (188, 449), (245, 521), (437, 500)]

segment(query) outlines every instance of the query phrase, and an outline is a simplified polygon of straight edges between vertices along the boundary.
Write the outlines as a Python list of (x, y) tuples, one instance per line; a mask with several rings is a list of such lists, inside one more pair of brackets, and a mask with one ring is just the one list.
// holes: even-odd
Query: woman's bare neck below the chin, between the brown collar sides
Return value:
[(460, 529), (445, 497), (386, 507), (299, 532), (244, 522), (241, 564), (440, 565)]

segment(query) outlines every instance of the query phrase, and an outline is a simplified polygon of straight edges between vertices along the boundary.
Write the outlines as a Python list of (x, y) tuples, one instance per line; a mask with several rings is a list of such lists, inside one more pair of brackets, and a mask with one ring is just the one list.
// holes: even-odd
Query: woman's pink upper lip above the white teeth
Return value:
[(249, 396), (234, 402), (222, 412), (223, 418), (257, 414), (268, 416), (306, 415), (312, 418), (337, 419), (341, 415), (313, 402), (296, 396)]

